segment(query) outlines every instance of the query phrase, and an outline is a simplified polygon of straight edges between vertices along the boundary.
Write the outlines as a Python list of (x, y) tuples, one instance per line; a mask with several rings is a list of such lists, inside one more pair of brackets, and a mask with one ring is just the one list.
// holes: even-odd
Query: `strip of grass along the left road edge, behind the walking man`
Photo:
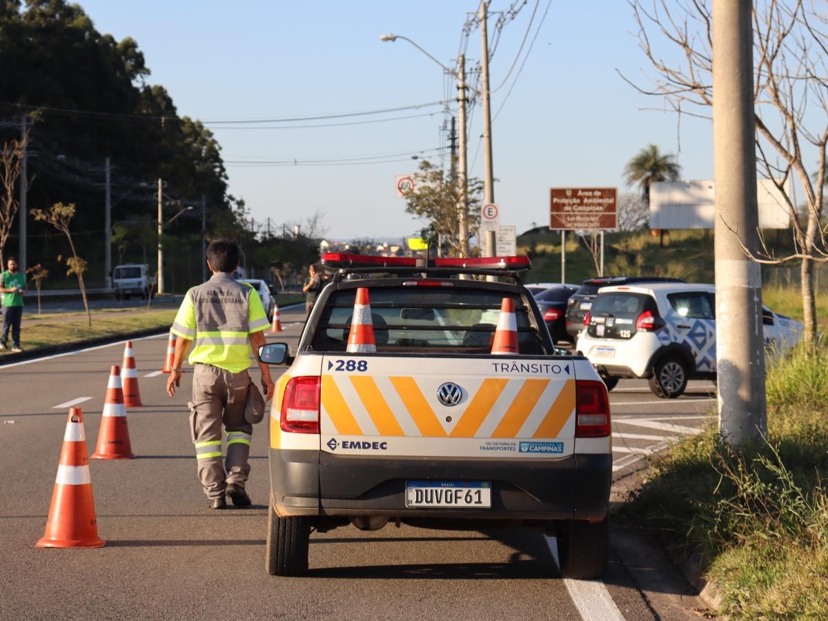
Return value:
[[(74, 343), (86, 339), (95, 339), (102, 336), (123, 335), (137, 330), (161, 328), (172, 325), (176, 317), (176, 309), (156, 310), (151, 312), (137, 311), (123, 317), (92, 318), (90, 328), (85, 315), (78, 320), (43, 321), (36, 325), (24, 325), (20, 333), (23, 349), (36, 349), (47, 345)], [(8, 354), (8, 350), (0, 352)]]

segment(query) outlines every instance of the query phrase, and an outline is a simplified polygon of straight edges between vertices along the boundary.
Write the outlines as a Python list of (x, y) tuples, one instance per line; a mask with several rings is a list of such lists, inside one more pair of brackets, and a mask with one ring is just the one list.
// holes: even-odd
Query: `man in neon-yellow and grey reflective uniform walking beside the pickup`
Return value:
[[(187, 291), (172, 325), (171, 331), (178, 339), (166, 392), (172, 397), (176, 387), (181, 386), (181, 364), (192, 344), (193, 400), (187, 405), (199, 479), (210, 507), (224, 509), (225, 496), (237, 506), (250, 504), (244, 485), (250, 474), (248, 457), (253, 425), (245, 418), (245, 406), (248, 392), (258, 392), (258, 388), (253, 386), (248, 367), (251, 347), (256, 351), (266, 343), (263, 330), (270, 323), (253, 287), (233, 279), (238, 268), (235, 243), (226, 239), (210, 243), (207, 265), (213, 277)], [(262, 369), (264, 401), (268, 402), (273, 396), (273, 380), (267, 364), (256, 359)], [(227, 431), (224, 462), (223, 425)]]

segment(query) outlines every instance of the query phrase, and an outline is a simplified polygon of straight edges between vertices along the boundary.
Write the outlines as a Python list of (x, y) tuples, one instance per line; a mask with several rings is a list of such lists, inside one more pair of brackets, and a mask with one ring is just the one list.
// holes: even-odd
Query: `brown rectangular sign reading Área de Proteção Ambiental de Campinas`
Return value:
[(552, 188), (553, 231), (618, 229), (617, 188)]

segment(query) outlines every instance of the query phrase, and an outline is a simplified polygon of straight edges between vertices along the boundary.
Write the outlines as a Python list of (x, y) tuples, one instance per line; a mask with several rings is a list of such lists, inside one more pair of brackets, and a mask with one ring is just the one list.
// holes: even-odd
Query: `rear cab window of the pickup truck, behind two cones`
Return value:
[[(488, 354), (504, 296), (512, 297), (521, 354), (545, 354), (521, 296), (501, 291), (454, 291), (431, 287), (370, 288), (371, 318), (378, 352), (422, 351)], [(315, 335), (316, 351), (344, 351), (354, 314), (355, 289), (328, 298)]]

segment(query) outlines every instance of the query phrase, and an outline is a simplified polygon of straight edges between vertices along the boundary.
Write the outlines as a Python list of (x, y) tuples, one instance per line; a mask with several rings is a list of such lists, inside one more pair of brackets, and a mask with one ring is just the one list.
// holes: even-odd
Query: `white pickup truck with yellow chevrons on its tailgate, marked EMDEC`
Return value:
[[(590, 361), (556, 350), (518, 272), (525, 257), (327, 254), (336, 268), (270, 418), (267, 571), (301, 575), (311, 528), (532, 527), (556, 535), (567, 576), (604, 574), (612, 449), (609, 400)], [(498, 282), (482, 277), (497, 275)], [(376, 351), (349, 353), (359, 287)], [(511, 298), (519, 354), (493, 355)]]

